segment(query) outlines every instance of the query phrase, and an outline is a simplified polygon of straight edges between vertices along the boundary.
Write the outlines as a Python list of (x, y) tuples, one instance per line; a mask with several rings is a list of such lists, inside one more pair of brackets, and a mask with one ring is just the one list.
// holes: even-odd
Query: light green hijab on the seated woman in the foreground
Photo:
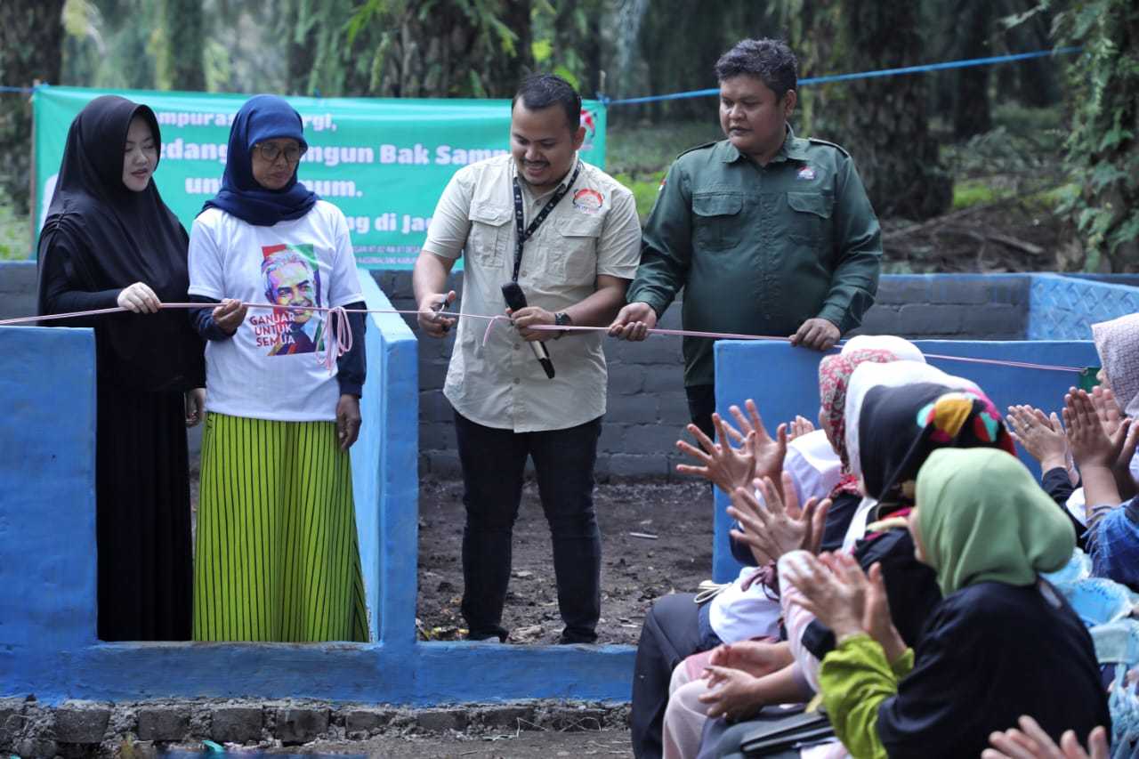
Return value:
[(1072, 557), (1075, 533), (1015, 456), (942, 448), (917, 480), (918, 537), (943, 596), (975, 582), (1031, 585)]

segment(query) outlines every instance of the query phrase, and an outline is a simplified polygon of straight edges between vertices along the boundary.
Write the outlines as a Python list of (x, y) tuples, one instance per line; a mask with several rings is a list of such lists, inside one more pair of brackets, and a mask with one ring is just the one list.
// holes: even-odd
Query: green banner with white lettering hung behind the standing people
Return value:
[[(121, 95), (154, 108), (162, 160), (154, 179), (187, 230), (218, 191), (229, 126), (248, 96), (46, 87), (35, 91), (35, 213), (43, 226), (72, 120), (91, 99)], [(435, 203), (461, 166), (509, 148), (509, 100), (300, 98), (309, 152), (300, 179), (347, 217), (357, 262), (408, 269)], [(605, 166), (605, 106), (583, 104), (583, 160)], [(116, 146), (107, 146), (116, 149)], [(122, 149), (122, 146), (117, 146)]]

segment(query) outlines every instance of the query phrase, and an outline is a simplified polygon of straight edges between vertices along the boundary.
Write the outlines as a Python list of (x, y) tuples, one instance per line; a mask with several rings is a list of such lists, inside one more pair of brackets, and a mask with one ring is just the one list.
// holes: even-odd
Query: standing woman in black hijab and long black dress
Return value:
[(151, 180), (159, 152), (150, 108), (92, 100), (67, 133), (40, 235), (40, 313), (129, 310), (60, 323), (95, 328), (103, 640), (190, 637), (186, 427), (205, 410), (205, 361), (186, 315), (159, 310), (189, 286), (189, 238)]

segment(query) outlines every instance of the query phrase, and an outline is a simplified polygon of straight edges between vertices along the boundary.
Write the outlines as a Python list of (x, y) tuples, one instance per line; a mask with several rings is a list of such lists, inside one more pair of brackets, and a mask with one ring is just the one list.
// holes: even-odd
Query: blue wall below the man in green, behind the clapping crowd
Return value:
[[(924, 353), (972, 358), (1029, 361), (1055, 366), (1087, 367), (1097, 362), (1090, 342), (966, 342), (917, 341)], [(819, 411), (819, 353), (792, 348), (786, 343), (722, 341), (716, 343), (716, 407), (727, 415), (732, 403), (754, 398), (769, 429), (801, 414), (809, 419)], [(1044, 372), (985, 364), (929, 359), (940, 369), (967, 377), (980, 385), (1001, 411), (1014, 403), (1031, 403), (1046, 410), (1059, 410), (1065, 391), (1077, 382), (1066, 372)], [(727, 418), (731, 418), (730, 416)], [(1039, 467), (1027, 455), (1022, 460), (1036, 474)], [(724, 509), (727, 497), (715, 495), (715, 544), (712, 550), (713, 577), (727, 582), (739, 573), (739, 564), (728, 548), (731, 520)]]

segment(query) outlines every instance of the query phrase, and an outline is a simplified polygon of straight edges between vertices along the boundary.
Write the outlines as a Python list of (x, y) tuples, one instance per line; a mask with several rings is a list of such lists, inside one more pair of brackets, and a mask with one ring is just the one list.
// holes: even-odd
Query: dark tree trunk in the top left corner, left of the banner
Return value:
[[(58, 83), (64, 28), (63, 0), (5, 0), (0, 23), (0, 82), (31, 87)], [(0, 95), (0, 193), (27, 207), (32, 165), (32, 100)]]

